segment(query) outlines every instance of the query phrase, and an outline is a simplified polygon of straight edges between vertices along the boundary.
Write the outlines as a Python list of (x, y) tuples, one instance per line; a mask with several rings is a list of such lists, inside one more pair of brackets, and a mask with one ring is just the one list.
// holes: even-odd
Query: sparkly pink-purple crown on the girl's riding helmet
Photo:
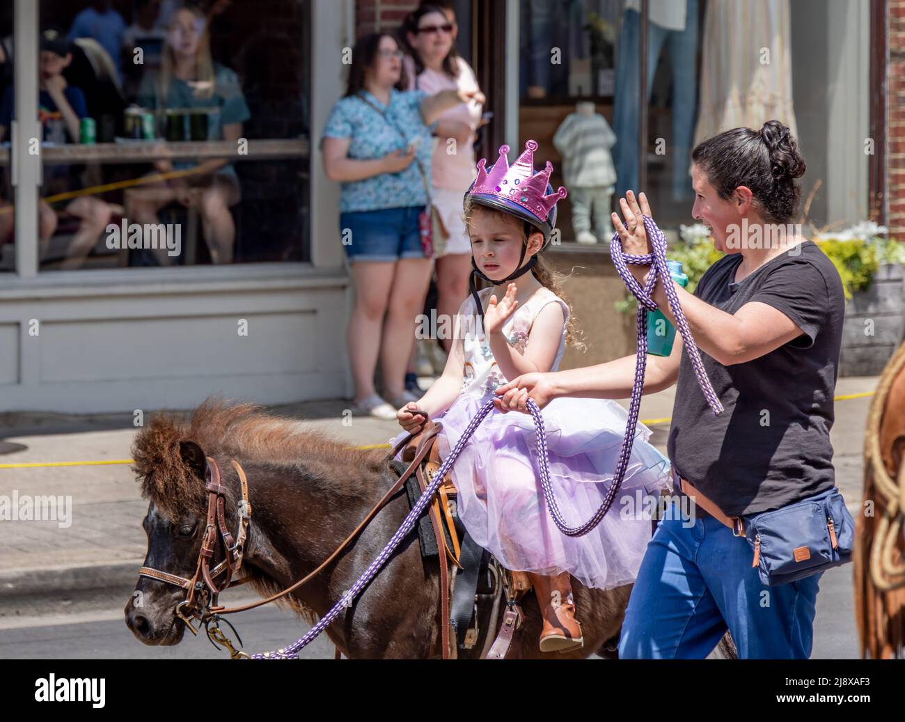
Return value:
[(485, 170), (487, 158), (478, 161), (478, 177), (472, 186), (472, 195), (496, 195), (499, 198), (516, 203), (545, 222), (550, 210), (560, 198), (565, 198), (567, 190), (560, 185), (559, 190), (547, 195), (550, 174), (553, 164), (534, 172), (534, 151), (538, 149), (536, 140), (525, 143), (525, 150), (519, 159), (509, 165), (506, 154), (509, 146), (500, 146), (500, 157), (491, 167), (490, 173)]

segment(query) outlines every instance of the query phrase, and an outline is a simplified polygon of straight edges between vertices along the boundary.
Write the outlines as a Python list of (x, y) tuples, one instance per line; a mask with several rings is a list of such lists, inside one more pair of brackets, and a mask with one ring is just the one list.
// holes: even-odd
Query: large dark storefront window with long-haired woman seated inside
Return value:
[(42, 0), (42, 271), (310, 260), (310, 2), (183, 5)]

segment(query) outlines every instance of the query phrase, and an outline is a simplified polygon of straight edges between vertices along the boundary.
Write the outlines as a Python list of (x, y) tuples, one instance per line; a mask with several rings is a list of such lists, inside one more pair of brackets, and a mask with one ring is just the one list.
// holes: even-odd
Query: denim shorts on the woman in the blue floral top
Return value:
[(424, 205), (339, 214), (339, 237), (348, 261), (424, 258), (418, 215)]

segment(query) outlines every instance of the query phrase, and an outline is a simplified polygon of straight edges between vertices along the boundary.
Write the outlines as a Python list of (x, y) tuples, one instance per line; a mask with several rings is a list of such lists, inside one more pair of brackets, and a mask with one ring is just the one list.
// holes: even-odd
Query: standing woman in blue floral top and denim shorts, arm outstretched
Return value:
[[(418, 231), (430, 194), (431, 132), (445, 110), (484, 102), (480, 91), (403, 90), (402, 55), (391, 34), (358, 40), (346, 95), (321, 138), (324, 169), (340, 184), (339, 233), (356, 290), (348, 324), (354, 410), (386, 419), (416, 400), (403, 383), (432, 273)], [(374, 387), (378, 357), (389, 403)]]

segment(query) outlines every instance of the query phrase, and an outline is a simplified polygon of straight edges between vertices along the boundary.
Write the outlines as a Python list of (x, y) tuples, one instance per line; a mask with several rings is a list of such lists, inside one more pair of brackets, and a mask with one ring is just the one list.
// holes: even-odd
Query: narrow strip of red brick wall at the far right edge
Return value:
[(905, 241), (905, 0), (889, 0), (889, 156), (890, 235)]

